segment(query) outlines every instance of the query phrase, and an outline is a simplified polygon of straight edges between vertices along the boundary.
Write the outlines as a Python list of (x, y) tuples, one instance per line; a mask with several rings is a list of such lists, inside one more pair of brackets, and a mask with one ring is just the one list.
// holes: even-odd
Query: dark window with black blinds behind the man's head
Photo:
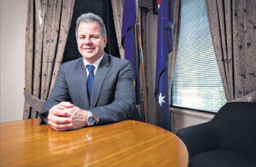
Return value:
[(76, 43), (76, 20), (81, 14), (87, 12), (100, 16), (106, 26), (108, 42), (104, 51), (107, 54), (120, 58), (111, 0), (76, 0), (62, 63), (81, 57)]

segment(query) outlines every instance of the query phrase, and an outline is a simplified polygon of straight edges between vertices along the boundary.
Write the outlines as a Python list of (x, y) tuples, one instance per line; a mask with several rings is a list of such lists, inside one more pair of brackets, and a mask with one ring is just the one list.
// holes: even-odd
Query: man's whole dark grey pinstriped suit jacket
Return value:
[(62, 101), (90, 110), (99, 118), (98, 124), (131, 119), (132, 115), (138, 119), (132, 67), (128, 60), (104, 53), (94, 77), (90, 102), (86, 82), (83, 58), (62, 64), (50, 97), (40, 113), (42, 121), (47, 123), (48, 110)]

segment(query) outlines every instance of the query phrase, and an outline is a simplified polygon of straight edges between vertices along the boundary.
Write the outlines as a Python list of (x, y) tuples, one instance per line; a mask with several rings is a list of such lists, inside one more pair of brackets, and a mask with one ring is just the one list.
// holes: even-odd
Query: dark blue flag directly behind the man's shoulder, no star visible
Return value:
[(124, 0), (123, 22), (122, 22), (122, 47), (124, 58), (132, 65), (134, 85), (136, 91), (136, 104), (140, 104), (140, 69), (136, 50), (136, 38), (134, 25), (136, 24), (135, 0)]

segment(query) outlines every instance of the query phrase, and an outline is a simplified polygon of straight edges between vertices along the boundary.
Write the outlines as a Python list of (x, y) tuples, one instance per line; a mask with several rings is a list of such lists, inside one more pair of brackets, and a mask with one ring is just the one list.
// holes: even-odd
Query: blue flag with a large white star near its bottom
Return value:
[(158, 102), (158, 126), (170, 131), (168, 54), (172, 51), (173, 0), (159, 0), (159, 5), (155, 99)]

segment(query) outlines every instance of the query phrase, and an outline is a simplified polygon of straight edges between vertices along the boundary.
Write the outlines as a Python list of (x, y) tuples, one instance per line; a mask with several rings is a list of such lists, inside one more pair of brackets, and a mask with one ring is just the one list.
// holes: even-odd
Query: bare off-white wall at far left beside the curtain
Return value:
[(27, 0), (0, 0), (0, 122), (21, 120)]

